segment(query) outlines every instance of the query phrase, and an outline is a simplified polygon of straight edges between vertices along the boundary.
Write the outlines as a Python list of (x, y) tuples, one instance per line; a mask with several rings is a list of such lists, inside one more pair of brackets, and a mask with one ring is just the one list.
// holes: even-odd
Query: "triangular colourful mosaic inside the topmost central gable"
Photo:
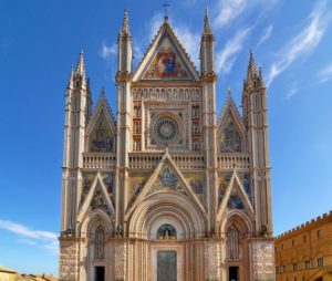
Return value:
[(169, 39), (165, 37), (144, 74), (146, 80), (188, 80), (189, 75)]

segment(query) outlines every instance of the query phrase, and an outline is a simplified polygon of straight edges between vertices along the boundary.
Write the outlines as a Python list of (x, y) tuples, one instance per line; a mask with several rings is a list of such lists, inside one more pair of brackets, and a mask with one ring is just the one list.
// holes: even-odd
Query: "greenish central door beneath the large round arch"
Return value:
[(157, 281), (176, 281), (176, 251), (158, 251)]

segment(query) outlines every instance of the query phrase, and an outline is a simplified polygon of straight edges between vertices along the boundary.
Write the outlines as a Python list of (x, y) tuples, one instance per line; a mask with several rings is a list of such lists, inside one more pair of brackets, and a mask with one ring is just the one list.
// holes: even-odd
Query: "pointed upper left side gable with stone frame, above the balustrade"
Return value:
[(104, 92), (86, 126), (86, 152), (114, 152), (116, 126)]

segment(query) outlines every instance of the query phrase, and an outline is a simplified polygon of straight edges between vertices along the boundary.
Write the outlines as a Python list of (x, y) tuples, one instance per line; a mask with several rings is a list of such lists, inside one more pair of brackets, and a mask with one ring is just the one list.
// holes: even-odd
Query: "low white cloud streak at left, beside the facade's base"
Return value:
[(50, 250), (52, 253), (59, 253), (58, 236), (53, 232), (43, 230), (33, 230), (23, 225), (19, 225), (9, 220), (0, 219), (0, 229), (4, 229), (18, 235), (21, 242), (30, 246), (40, 246)]

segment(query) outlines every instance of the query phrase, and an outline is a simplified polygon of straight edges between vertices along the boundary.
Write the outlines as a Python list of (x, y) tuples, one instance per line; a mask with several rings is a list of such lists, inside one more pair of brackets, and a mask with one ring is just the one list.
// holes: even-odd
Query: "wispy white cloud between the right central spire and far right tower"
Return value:
[(216, 54), (216, 71), (217, 73), (228, 73), (231, 71), (234, 63), (237, 60), (238, 53), (242, 50), (246, 39), (251, 29), (241, 29), (236, 35), (227, 41), (224, 50)]

